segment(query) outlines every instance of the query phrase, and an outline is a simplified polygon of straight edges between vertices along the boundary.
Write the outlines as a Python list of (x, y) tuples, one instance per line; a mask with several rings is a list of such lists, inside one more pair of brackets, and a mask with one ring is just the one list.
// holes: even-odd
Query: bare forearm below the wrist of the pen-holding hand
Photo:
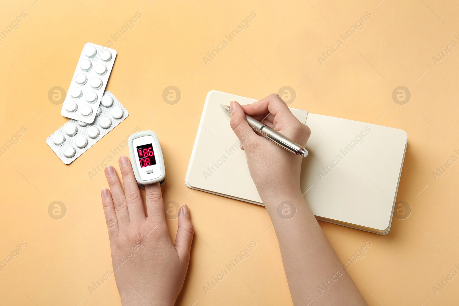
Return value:
[[(263, 202), (279, 241), (293, 304), (307, 305), (314, 300), (321, 305), (366, 305), (301, 191), (288, 194), (265, 196)], [(279, 206), (285, 210), (292, 206), (290, 209), (296, 210), (295, 215), (282, 214)]]

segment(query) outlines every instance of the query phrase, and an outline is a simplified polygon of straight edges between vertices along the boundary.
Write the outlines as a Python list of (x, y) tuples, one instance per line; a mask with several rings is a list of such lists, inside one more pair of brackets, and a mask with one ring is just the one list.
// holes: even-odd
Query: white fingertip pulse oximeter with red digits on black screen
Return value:
[(166, 168), (159, 139), (153, 131), (142, 131), (129, 136), (129, 154), (132, 169), (140, 188), (166, 182)]

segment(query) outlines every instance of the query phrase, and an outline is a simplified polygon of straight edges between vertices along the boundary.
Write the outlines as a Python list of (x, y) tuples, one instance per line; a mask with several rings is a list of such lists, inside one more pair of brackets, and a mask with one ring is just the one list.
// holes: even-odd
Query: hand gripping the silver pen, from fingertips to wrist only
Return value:
[[(299, 122), (285, 102), (276, 94), (253, 104), (240, 105), (231, 101), (231, 128), (246, 151), (247, 164), (263, 203), (270, 200), (295, 200), (301, 196), (300, 171), (302, 157), (275, 145), (252, 131), (245, 115), (263, 122), (303, 147), (311, 134), (308, 126)], [(299, 199), (299, 198), (298, 198)]]

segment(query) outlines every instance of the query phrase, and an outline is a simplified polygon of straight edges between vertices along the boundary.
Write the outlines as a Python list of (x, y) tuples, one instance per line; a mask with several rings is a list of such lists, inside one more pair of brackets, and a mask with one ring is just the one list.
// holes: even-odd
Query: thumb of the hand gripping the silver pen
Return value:
[(252, 128), (247, 123), (246, 114), (242, 109), (241, 105), (236, 101), (231, 101), (230, 107), (231, 120), (229, 121), (229, 125), (233, 129), (237, 138), (239, 138), (239, 140), (241, 141), (241, 145), (244, 146), (244, 150), (246, 150), (250, 143), (253, 144), (258, 140), (259, 136), (252, 130)]

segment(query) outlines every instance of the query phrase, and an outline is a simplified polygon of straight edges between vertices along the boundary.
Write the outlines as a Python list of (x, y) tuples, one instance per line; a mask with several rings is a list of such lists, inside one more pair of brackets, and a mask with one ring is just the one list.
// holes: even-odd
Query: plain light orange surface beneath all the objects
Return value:
[[(432, 289), (453, 269), (459, 272), (459, 166), (454, 162), (437, 179), (432, 174), (459, 157), (459, 51), (432, 60), (452, 40), (459, 43), (456, 1), (35, 1), (0, 4), (0, 30), (27, 14), (0, 41), (0, 145), (27, 128), (0, 156), (0, 260), (27, 243), (0, 271), (3, 305), (120, 305), (113, 277), (92, 295), (88, 290), (111, 263), (100, 200), (107, 184), (103, 174), (91, 179), (89, 172), (136, 127), (158, 134), (167, 169), (164, 200), (188, 204), (196, 228), (177, 305), (291, 305), (265, 209), (184, 183), (209, 90), (262, 98), (282, 86), (296, 91), (291, 107), (408, 133), (397, 200), (409, 204), (411, 215), (394, 217), (386, 236), (320, 223), (342, 262), (371, 242), (348, 270), (369, 305), (457, 303), (458, 277), (437, 294)], [(142, 16), (134, 28), (114, 42), (110, 35), (137, 11)], [(257, 16), (249, 28), (206, 65), (203, 56), (252, 11)], [(318, 56), (365, 12), (371, 17), (364, 28), (320, 65)], [(107, 40), (118, 56), (106, 90), (129, 117), (67, 166), (45, 143), (67, 121), (48, 91), (68, 90), (83, 45)], [(162, 99), (171, 85), (182, 94), (176, 105)], [(412, 95), (405, 105), (392, 100), (401, 85)], [(118, 157), (111, 162), (116, 168)], [(60, 220), (48, 215), (55, 200), (67, 207)], [(176, 220), (168, 224), (174, 239)], [(257, 246), (250, 256), (206, 295), (202, 287), (251, 241)]]

